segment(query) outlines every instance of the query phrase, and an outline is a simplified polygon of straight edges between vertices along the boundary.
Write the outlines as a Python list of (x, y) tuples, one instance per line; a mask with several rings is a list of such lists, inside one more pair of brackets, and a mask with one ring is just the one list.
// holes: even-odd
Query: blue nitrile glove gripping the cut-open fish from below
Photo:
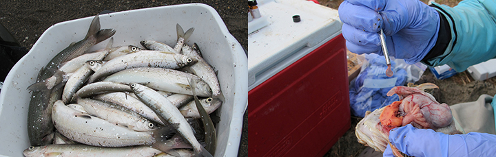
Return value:
[[(448, 135), (412, 125), (389, 132), (391, 142), (408, 156), (495, 156), (496, 135), (479, 132)], [(388, 145), (383, 156), (393, 156)]]

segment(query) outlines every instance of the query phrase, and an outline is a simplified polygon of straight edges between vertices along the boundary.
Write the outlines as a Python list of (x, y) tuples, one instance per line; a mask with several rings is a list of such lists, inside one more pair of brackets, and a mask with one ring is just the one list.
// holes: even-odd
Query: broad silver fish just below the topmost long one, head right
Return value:
[(211, 97), (211, 89), (207, 83), (200, 77), (163, 68), (136, 68), (119, 71), (105, 78), (106, 82), (121, 82), (123, 84), (139, 83), (145, 84), (156, 90), (164, 90), (172, 93), (180, 93), (185, 95), (193, 95), (191, 86), (188, 84), (188, 79), (192, 78), (196, 82), (196, 93), (200, 97)]

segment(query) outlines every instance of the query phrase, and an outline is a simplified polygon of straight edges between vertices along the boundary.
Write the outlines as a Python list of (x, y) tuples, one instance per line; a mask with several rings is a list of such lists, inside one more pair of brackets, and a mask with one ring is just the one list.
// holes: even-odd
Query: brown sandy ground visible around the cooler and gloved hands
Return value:
[[(321, 5), (329, 8), (338, 9), (342, 0), (320, 0)], [(424, 1), (426, 3), (427, 1)], [(459, 0), (436, 0), (437, 3), (455, 6)], [(421, 79), (415, 84), (431, 82), (439, 86), (433, 92), (434, 97), (440, 103), (448, 105), (459, 104), (468, 101), (475, 101), (482, 94), (496, 94), (496, 78), (490, 78), (484, 81), (475, 81), (467, 71), (458, 73), (446, 80), (437, 80), (431, 71), (425, 71)], [(331, 147), (329, 152), (324, 156), (358, 156), (364, 151), (366, 146), (358, 143), (355, 136), (355, 125), (361, 118), (351, 117), (351, 128), (346, 132), (337, 143)]]

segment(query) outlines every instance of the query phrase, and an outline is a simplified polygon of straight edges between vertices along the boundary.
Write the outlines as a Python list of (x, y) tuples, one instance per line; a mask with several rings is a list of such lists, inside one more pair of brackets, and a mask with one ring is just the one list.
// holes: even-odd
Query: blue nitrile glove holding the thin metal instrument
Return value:
[(382, 28), (389, 55), (409, 64), (422, 60), (434, 47), (440, 28), (438, 12), (418, 0), (346, 0), (338, 12), (351, 52), (382, 55), (378, 34)]

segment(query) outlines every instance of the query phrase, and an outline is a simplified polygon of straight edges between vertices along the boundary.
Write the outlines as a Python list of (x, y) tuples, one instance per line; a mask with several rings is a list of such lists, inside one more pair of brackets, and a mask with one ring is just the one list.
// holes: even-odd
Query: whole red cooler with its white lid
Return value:
[(248, 36), (248, 154), (323, 156), (350, 127), (338, 10), (304, 0), (257, 2), (262, 18), (249, 22)]

